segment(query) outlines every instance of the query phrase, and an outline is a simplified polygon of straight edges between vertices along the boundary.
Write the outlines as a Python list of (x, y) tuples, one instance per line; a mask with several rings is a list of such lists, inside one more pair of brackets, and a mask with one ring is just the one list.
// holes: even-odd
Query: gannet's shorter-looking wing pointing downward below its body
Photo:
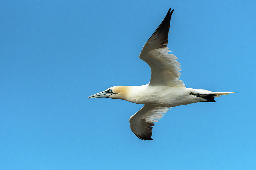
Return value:
[(169, 109), (166, 107), (144, 105), (130, 117), (131, 131), (142, 140), (153, 140), (151, 130), (155, 122), (158, 122), (168, 111)]

